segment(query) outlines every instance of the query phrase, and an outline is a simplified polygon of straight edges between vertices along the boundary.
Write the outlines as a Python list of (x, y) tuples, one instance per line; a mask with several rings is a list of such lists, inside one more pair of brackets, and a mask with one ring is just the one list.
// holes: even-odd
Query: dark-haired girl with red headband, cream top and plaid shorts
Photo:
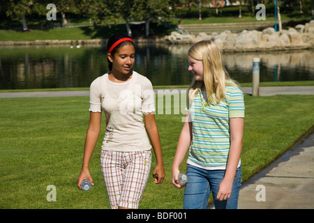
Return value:
[(138, 208), (149, 178), (151, 147), (156, 156), (154, 183), (162, 183), (165, 177), (154, 115), (154, 91), (147, 77), (132, 70), (135, 45), (129, 36), (112, 36), (107, 42), (107, 50), (110, 71), (91, 83), (90, 121), (77, 183), (80, 189), (84, 178), (93, 184), (89, 161), (100, 133), (103, 111), (106, 132), (100, 161), (110, 206), (113, 209)]

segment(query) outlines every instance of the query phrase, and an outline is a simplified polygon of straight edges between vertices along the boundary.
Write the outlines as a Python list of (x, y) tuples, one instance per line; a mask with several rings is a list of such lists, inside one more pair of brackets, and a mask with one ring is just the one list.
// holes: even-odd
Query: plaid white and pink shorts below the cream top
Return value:
[(101, 151), (100, 164), (111, 208), (138, 208), (149, 178), (151, 151)]

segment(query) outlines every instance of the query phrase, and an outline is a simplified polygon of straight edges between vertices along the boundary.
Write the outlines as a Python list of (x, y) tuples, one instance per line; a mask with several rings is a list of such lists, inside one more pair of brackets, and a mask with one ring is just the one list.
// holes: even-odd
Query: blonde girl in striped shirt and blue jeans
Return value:
[[(210, 192), (216, 208), (237, 208), (244, 95), (230, 79), (222, 55), (211, 40), (190, 47), (188, 62), (194, 78), (172, 164), (172, 184), (185, 187), (184, 208), (207, 208)], [(179, 185), (179, 167), (188, 149), (188, 182)]]

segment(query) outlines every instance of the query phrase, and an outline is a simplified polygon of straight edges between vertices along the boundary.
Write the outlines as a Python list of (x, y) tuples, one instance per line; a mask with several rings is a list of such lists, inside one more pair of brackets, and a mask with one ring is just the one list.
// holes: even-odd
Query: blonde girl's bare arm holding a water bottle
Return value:
[(176, 155), (174, 155), (174, 161), (172, 163), (172, 184), (176, 187), (184, 187), (184, 185), (178, 184), (178, 176), (180, 174), (179, 167), (190, 147), (190, 141), (192, 140), (192, 123), (189, 121), (190, 113), (186, 114), (186, 120), (181, 130), (179, 137)]

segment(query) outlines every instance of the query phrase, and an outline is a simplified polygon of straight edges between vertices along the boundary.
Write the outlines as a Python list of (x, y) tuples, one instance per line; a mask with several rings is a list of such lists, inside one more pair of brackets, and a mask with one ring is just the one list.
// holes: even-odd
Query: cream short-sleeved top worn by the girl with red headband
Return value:
[(143, 114), (155, 112), (155, 94), (147, 77), (133, 71), (124, 83), (111, 82), (108, 73), (91, 83), (90, 112), (106, 117), (102, 149), (106, 151), (147, 151), (151, 149)]

